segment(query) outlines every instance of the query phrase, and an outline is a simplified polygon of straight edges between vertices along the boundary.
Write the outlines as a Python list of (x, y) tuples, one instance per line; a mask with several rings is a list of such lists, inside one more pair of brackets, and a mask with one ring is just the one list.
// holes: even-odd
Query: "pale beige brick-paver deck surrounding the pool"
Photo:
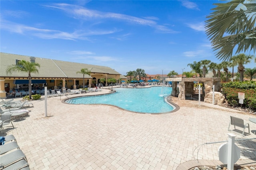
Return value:
[[(107, 93), (104, 89), (102, 92)], [(77, 94), (76, 96), (84, 96)], [(88, 95), (88, 94), (86, 94)], [(68, 97), (73, 97), (69, 95)], [(61, 100), (65, 99), (61, 96)], [(18, 99), (15, 99), (18, 100)], [(218, 147), (228, 140), (230, 115), (249, 122), (255, 115), (196, 101), (173, 99), (180, 109), (169, 114), (140, 114), (106, 105), (64, 104), (60, 97), (32, 101), (30, 116), (14, 121), (14, 135), (31, 169), (168, 169), (194, 160), (218, 160)], [(256, 137), (252, 134), (236, 139)], [(256, 158), (256, 140), (238, 141), (241, 159)], [(198, 156), (198, 157), (197, 157)]]

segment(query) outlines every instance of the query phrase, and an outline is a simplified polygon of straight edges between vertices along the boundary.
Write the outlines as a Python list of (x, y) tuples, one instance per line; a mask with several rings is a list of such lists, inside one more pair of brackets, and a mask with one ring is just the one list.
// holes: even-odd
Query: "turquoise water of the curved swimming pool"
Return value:
[(141, 113), (164, 113), (174, 108), (164, 101), (170, 87), (115, 88), (116, 93), (67, 100), (70, 104), (110, 104)]

